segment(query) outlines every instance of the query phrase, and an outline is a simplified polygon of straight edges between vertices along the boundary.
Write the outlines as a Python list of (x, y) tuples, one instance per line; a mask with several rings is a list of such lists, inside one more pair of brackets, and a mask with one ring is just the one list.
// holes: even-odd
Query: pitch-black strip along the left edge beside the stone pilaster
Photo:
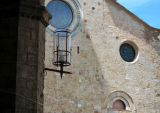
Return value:
[(0, 4), (0, 113), (15, 113), (19, 0)]

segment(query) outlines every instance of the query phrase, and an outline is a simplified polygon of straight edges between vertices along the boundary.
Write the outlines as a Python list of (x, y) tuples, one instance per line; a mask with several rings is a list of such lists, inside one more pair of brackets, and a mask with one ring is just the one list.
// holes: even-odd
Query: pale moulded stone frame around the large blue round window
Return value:
[[(46, 0), (45, 7), (47, 7), (47, 5), (52, 1), (55, 1), (55, 0)], [(81, 7), (78, 0), (60, 0), (60, 1), (66, 3), (72, 10), (73, 20), (72, 20), (71, 24), (68, 27), (66, 27), (65, 29), (69, 30), (71, 32), (71, 36), (73, 36), (80, 30), (80, 28), (83, 24), (82, 7)], [(53, 32), (55, 32), (57, 30), (57, 28), (55, 28), (52, 25), (49, 25), (48, 28)]]

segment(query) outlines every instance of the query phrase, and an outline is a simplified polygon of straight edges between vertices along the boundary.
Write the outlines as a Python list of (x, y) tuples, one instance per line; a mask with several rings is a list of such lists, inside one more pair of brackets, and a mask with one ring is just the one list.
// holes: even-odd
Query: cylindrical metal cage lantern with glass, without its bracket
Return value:
[(55, 32), (53, 64), (56, 66), (71, 65), (71, 35), (66, 29), (59, 29)]

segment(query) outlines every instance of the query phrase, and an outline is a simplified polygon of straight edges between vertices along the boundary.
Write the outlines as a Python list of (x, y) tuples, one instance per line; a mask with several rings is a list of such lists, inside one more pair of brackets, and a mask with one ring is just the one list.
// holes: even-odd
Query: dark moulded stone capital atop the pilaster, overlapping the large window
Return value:
[(19, 11), (19, 15), (21, 17), (40, 20), (44, 26), (49, 25), (49, 19), (51, 18), (51, 15), (47, 12), (44, 6), (33, 5), (28, 2), (21, 2)]

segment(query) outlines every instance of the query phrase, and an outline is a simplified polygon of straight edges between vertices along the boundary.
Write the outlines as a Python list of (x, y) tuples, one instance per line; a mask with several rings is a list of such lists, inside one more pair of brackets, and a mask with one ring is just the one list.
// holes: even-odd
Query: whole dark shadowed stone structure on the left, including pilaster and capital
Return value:
[(0, 113), (42, 113), (44, 0), (1, 1)]

